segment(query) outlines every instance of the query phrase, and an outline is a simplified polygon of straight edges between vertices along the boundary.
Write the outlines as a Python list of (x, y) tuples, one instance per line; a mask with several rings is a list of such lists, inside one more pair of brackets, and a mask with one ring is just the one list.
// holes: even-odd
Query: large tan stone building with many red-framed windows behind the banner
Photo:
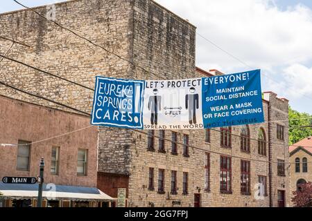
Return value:
[[(55, 16), (51, 19), (91, 39), (110, 52), (88, 43), (51, 21), (38, 17), (30, 10), (19, 10), (0, 15), (1, 35), (22, 41), (31, 47), (14, 44), (8, 52), (8, 57), (85, 86), (94, 87), (96, 75), (130, 79), (185, 79), (222, 74), (217, 70), (208, 73), (196, 68), (196, 27), (154, 1), (74, 0), (34, 9), (49, 17), (52, 13)], [(0, 47), (0, 53), (3, 55), (11, 42), (0, 38), (0, 44), (4, 46)], [(82, 111), (91, 111), (92, 90), (44, 75), (7, 59), (3, 59), (0, 66), (1, 80), (8, 84), (40, 93)], [(10, 97), (21, 97), (20, 93), (5, 86), (0, 86), (0, 93)], [(44, 106), (64, 108), (28, 95), (25, 95), (24, 99)], [(263, 108), (266, 121), (288, 119), (288, 101), (277, 98), (275, 93), (264, 93)], [(266, 142), (257, 141), (260, 128), (263, 128), (261, 139), (265, 139)], [(164, 141), (164, 151), (158, 152), (157, 137), (148, 139), (148, 135), (135, 131), (100, 127), (98, 180), (110, 182), (98, 182), (98, 188), (104, 191), (110, 189), (114, 193), (112, 196), (116, 197), (117, 189), (126, 187), (128, 206), (277, 206), (278, 195), (281, 202), (282, 196), (285, 195), (283, 191), (288, 191), (288, 176), (283, 176), (282, 173), (283, 160), (285, 164), (288, 162), (288, 122), (280, 122), (279, 131), (281, 129), (284, 130), (283, 139), (277, 139), (276, 123), (252, 125), (245, 129), (245, 133), (256, 139), (250, 142), (246, 140), (246, 145), (250, 144), (250, 153), (241, 151), (241, 138), (236, 136), (241, 134), (241, 127), (231, 129), (233, 135), (227, 140), (231, 144), (225, 145), (231, 148), (220, 147), (218, 131), (210, 131), (210, 142), (205, 140), (205, 130), (165, 131), (164, 137), (169, 140), (173, 132), (176, 132), (174, 137), (178, 142), (188, 140), (190, 146), (201, 148), (199, 150), (190, 147), (189, 157), (184, 157), (181, 144), (177, 144), (177, 155), (172, 155), (170, 141)], [(155, 131), (155, 135), (158, 133)], [(153, 140), (155, 151), (147, 149), (148, 140)], [(267, 143), (268, 141), (274, 144)], [(258, 154), (258, 143), (262, 145), (262, 155)], [(248, 149), (247, 146), (244, 148)], [(210, 153), (205, 158), (205, 152), (209, 151), (216, 153)], [(223, 168), (224, 174), (231, 174), (231, 180), (228, 180), (228, 184), (223, 180), (222, 193), (220, 155), (232, 155), (231, 162), (226, 164), (231, 165), (231, 170), (227, 171), (226, 166)], [(247, 187), (249, 184), (244, 184), (243, 194), (241, 159), (236, 157), (245, 157), (250, 161), (250, 188)], [(209, 159), (206, 166), (205, 159), (206, 162)], [(229, 158), (221, 159), (229, 162)], [(281, 176), (277, 176), (278, 160)], [(248, 165), (248, 162), (242, 164)], [(207, 184), (205, 173), (209, 181)], [(154, 186), (148, 186), (149, 174), (150, 180), (154, 180)], [(262, 177), (258, 177), (259, 175)], [(159, 184), (164, 184), (164, 189), (159, 193), (158, 177)], [(176, 193), (173, 191), (173, 194), (170, 193), (171, 177), (176, 181), (173, 182), (176, 186)], [(248, 177), (248, 174), (244, 177)], [(254, 186), (258, 179), (263, 184), (266, 183), (264, 186), (267, 187), (268, 196), (261, 200), (254, 198)], [(184, 194), (183, 183), (184, 187), (187, 186)], [(229, 189), (225, 191), (224, 188)], [(286, 205), (288, 200), (286, 195)]]

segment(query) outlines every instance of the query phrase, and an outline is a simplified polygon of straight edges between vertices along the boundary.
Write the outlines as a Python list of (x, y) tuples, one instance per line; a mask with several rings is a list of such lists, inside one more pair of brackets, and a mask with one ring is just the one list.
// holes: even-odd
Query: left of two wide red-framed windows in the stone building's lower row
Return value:
[(232, 193), (231, 157), (220, 156), (220, 192)]

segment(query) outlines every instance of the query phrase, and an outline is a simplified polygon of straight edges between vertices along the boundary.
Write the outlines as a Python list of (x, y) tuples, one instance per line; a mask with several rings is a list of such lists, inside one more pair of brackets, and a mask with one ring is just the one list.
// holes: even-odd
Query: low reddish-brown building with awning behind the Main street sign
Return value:
[[(96, 189), (98, 137), (89, 117), (0, 95), (0, 120), (1, 180), (37, 179), (44, 157), (43, 206), (98, 206), (113, 200)], [(3, 182), (0, 206), (36, 206), (38, 184)]]

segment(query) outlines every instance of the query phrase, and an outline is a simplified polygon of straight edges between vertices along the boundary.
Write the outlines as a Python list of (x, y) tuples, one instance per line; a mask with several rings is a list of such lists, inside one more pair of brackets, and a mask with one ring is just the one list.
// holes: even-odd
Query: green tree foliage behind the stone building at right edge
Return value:
[[(312, 127), (299, 127), (312, 125), (311, 119), (297, 119), (297, 118), (307, 118), (312, 117), (309, 113), (300, 113), (288, 107), (288, 119), (289, 121), (289, 144), (295, 144), (296, 142), (304, 139), (305, 137), (309, 137), (312, 135)], [(291, 120), (296, 119), (296, 120)]]

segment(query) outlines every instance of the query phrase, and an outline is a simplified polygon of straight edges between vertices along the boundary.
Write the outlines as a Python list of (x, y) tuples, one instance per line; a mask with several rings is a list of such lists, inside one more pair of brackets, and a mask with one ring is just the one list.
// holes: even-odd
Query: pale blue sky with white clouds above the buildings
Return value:
[[(196, 66), (223, 73), (259, 68), (263, 91), (312, 114), (312, 0), (155, 1), (197, 27)], [(18, 9), (14, 1), (0, 3), (0, 13)]]

